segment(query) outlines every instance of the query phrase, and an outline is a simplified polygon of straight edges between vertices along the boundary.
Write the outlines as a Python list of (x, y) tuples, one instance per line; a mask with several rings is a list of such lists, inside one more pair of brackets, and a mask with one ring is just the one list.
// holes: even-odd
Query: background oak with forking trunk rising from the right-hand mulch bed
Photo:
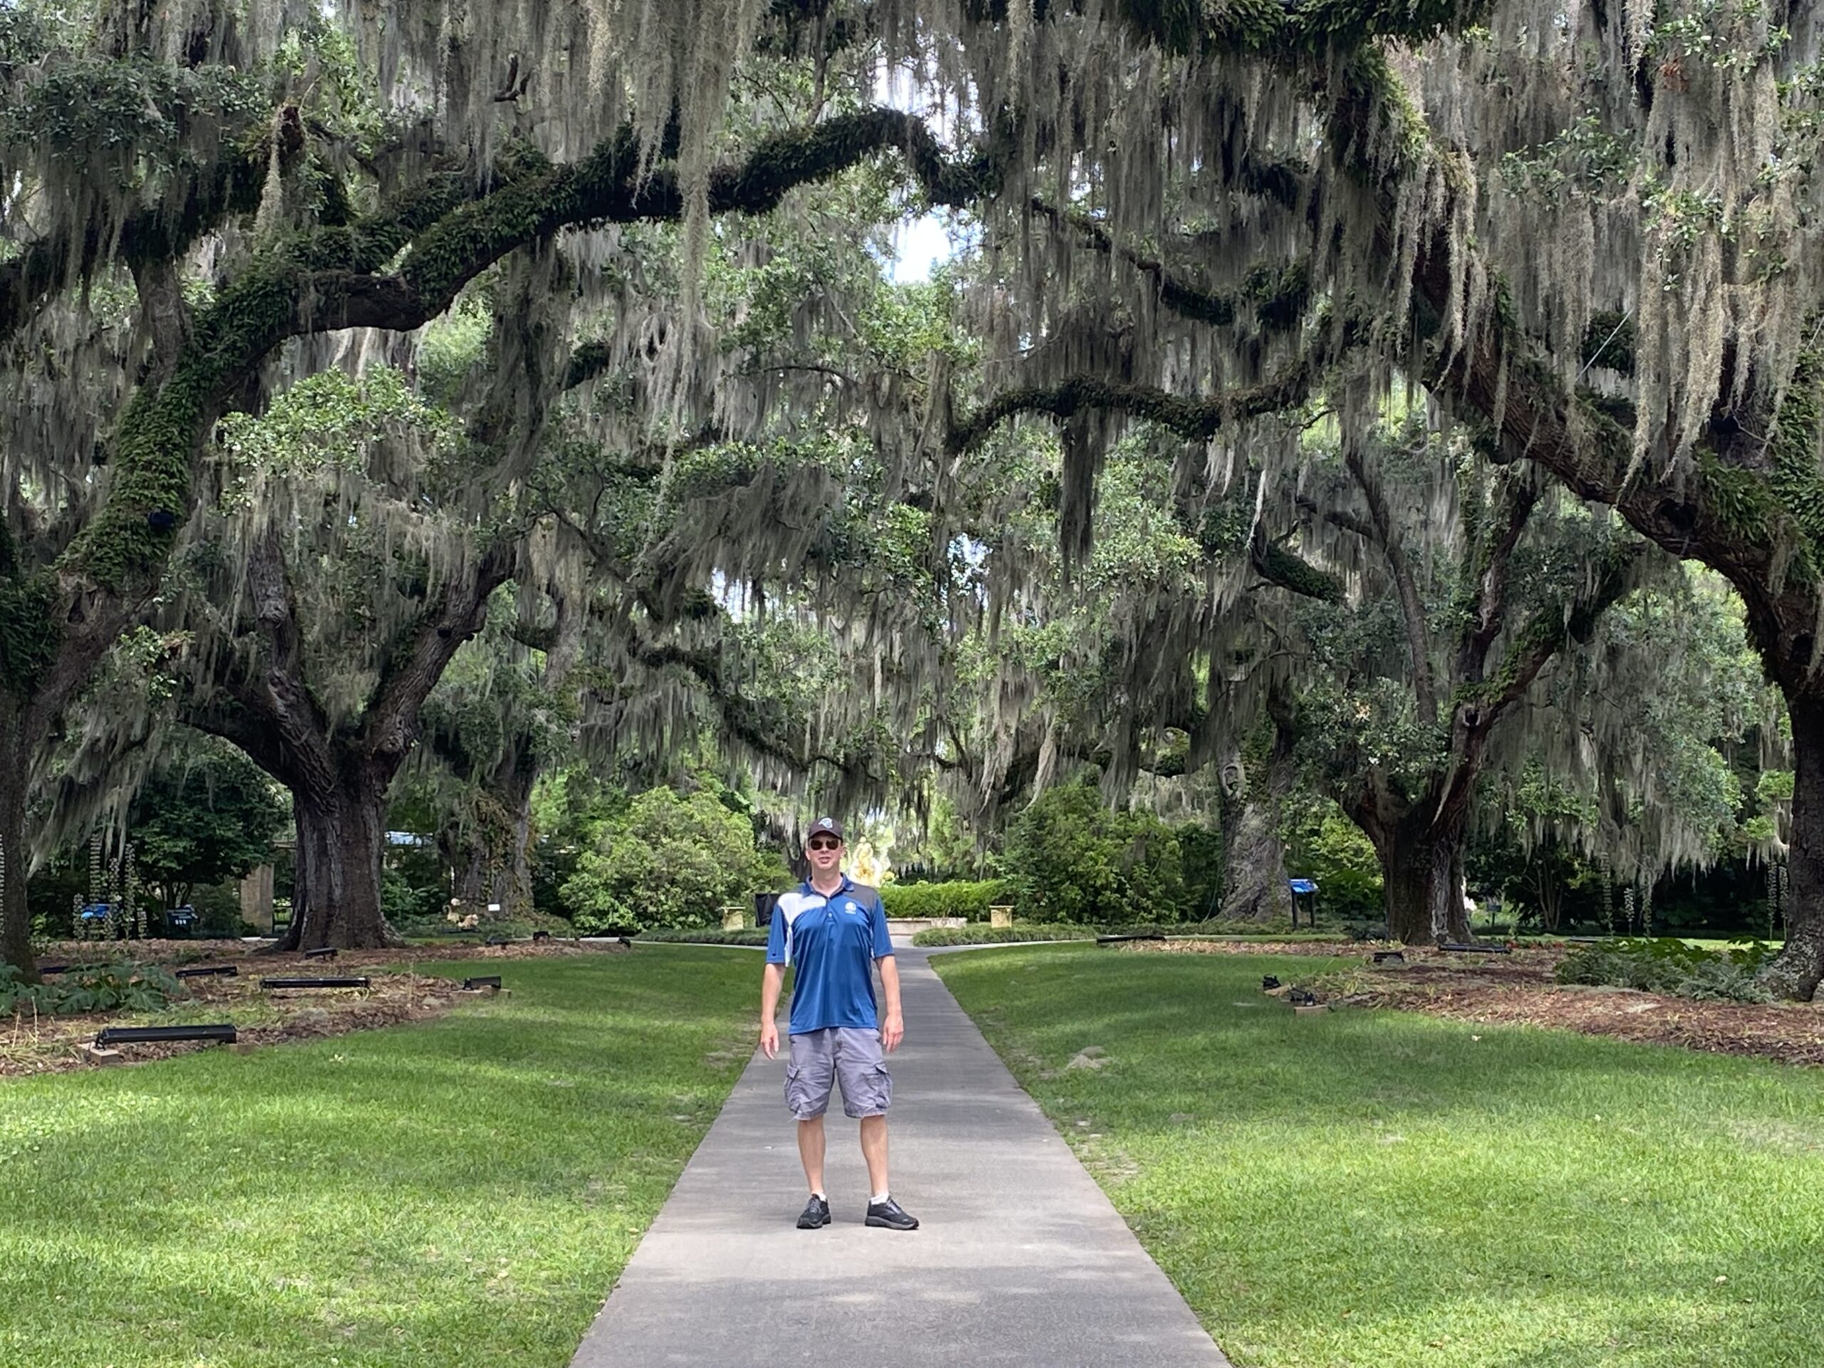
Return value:
[[(1357, 584), (1297, 613), (1310, 655), (1295, 744), (1373, 843), (1388, 930), (1466, 939), (1479, 790), (1538, 726), (1541, 677), (1591, 640), (1647, 558), (1607, 511), (1591, 516), (1530, 471), (1490, 471), (1421, 425), (1377, 436), (1321, 461), (1301, 494), (1308, 544), (1328, 544)], [(1632, 759), (1622, 710), (1596, 733), (1581, 702), (1558, 726), (1563, 750)]]

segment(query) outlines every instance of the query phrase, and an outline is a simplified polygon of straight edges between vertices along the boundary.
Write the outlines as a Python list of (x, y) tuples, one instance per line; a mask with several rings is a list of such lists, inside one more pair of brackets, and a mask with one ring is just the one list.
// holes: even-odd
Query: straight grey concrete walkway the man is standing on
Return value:
[(866, 1169), (834, 1098), (834, 1224), (793, 1228), (804, 1176), (784, 1060), (755, 1054), (573, 1368), (1226, 1368), (927, 952), (901, 947), (899, 976), (892, 1189), (923, 1228), (861, 1224)]

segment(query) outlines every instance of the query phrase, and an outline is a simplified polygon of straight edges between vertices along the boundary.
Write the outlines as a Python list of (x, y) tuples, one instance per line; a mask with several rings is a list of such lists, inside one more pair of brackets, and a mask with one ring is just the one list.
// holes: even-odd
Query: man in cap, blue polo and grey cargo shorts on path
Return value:
[[(899, 967), (886, 938), (881, 896), (843, 876), (843, 828), (834, 817), (812, 823), (810, 877), (797, 892), (781, 896), (766, 939), (766, 974), (761, 981), (761, 1049), (779, 1054), (779, 990), (786, 965), (797, 965), (792, 990), (792, 1058), (786, 1063), (786, 1105), (799, 1124), (799, 1158), (810, 1184), (810, 1202), (799, 1229), (830, 1224), (830, 1198), (823, 1191), (823, 1113), (832, 1083), (843, 1087), (843, 1111), (861, 1120), (861, 1155), (868, 1162), (868, 1224), (885, 1229), (917, 1229), (917, 1220), (886, 1191), (886, 1107), (894, 1080), (885, 1051), (905, 1036), (899, 1014)], [(886, 1025), (874, 1007), (874, 965), (886, 994)], [(885, 1049), (883, 1049), (885, 1047)]]

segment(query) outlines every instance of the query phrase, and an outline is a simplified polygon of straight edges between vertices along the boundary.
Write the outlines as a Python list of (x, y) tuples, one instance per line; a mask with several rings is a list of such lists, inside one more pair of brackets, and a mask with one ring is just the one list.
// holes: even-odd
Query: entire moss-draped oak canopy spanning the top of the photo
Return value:
[[(540, 762), (704, 733), (978, 823), (1093, 766), (1238, 839), (1297, 773), (1435, 939), (1529, 766), (1618, 866), (1711, 857), (1749, 724), (1649, 626), (1709, 611), (1687, 558), (1784, 699), (1755, 845), (1809, 996), (1819, 42), (1788, 0), (0, 5), (0, 841), (186, 722), (290, 790), (294, 938), (350, 945), (416, 764), (505, 868)], [(892, 281), (930, 210), (956, 259)], [(135, 631), (171, 684), (124, 728)]]

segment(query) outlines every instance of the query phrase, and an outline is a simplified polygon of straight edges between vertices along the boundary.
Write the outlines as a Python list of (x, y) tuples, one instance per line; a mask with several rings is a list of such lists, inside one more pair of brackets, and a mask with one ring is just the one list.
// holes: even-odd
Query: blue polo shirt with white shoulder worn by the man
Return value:
[(797, 965), (788, 1034), (879, 1029), (874, 961), (892, 952), (886, 908), (874, 888), (845, 877), (828, 897), (808, 881), (782, 894), (766, 938), (766, 963)]

